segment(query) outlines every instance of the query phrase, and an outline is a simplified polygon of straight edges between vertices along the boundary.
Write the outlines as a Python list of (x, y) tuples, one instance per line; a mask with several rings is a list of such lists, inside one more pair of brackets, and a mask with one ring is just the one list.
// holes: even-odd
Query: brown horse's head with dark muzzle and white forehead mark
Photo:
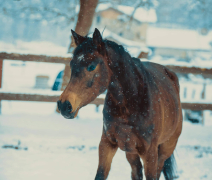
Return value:
[(72, 35), (77, 47), (70, 62), (71, 78), (57, 102), (61, 114), (68, 119), (75, 118), (81, 107), (103, 93), (110, 80), (105, 43), (99, 30), (95, 29), (93, 38), (73, 30)]

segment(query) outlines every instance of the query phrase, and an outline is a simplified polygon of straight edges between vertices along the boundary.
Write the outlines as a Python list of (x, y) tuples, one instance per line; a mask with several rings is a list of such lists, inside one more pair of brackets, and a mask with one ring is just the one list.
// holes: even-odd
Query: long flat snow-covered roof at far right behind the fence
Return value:
[(212, 31), (201, 35), (198, 31), (187, 29), (167, 29), (149, 27), (147, 45), (151, 47), (211, 50)]

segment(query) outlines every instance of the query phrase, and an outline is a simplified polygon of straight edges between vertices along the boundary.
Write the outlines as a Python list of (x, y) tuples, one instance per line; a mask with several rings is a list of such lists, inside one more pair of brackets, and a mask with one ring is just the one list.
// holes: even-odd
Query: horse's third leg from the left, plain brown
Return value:
[(146, 180), (157, 180), (158, 147), (151, 145), (142, 159)]

